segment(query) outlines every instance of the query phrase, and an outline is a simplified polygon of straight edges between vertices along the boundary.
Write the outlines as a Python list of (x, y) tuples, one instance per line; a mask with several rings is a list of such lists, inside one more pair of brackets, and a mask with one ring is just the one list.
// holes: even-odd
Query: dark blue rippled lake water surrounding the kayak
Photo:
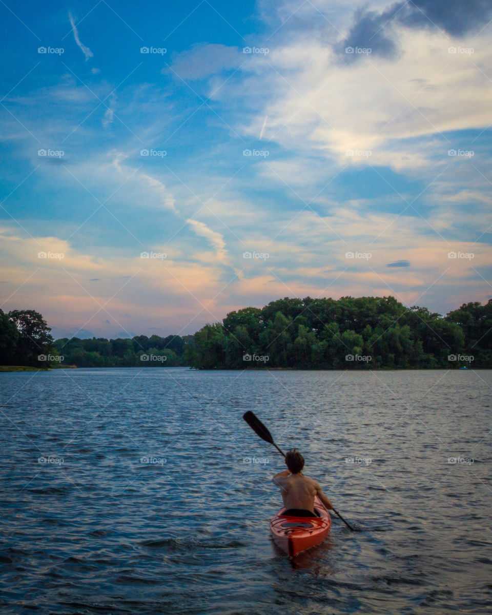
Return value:
[[(0, 386), (0, 613), (491, 612), (490, 371), (79, 369)], [(276, 549), (285, 466), (246, 410), (359, 531), (334, 517), (321, 546)]]

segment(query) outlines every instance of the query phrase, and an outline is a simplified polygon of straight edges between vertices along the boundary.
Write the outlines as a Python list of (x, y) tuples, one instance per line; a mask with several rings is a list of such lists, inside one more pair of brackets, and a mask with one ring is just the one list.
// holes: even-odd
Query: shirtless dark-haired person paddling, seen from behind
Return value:
[(284, 500), (284, 515), (295, 517), (317, 517), (314, 512), (314, 496), (322, 501), (328, 510), (332, 509), (330, 500), (325, 496), (319, 483), (313, 478), (308, 478), (302, 473), (304, 457), (294, 448), (287, 451), (285, 465), (288, 470), (276, 474), (272, 481), (279, 485)]

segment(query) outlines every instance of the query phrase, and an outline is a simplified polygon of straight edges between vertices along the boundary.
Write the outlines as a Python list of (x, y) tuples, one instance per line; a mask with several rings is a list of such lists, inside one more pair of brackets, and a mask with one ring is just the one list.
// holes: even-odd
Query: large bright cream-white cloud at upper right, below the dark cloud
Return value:
[[(431, 181), (450, 161), (447, 151), (453, 144), (447, 133), (490, 123), (478, 67), (490, 65), (491, 48), (482, 35), (475, 39), (472, 58), (453, 55), (448, 36), (438, 30), (395, 28), (403, 50), (397, 62), (369, 57), (343, 67), (316, 39), (272, 45), (268, 65), (257, 62), (256, 73), (247, 79), (248, 92), (255, 94), (247, 103), (254, 108), (245, 115), (242, 132), (257, 138), (268, 114), (264, 148), (271, 151), (267, 144), (275, 143), (297, 159), (311, 157), (315, 164), (324, 159), (328, 164), (319, 177), (327, 180), (349, 164), (418, 170)], [(236, 104), (244, 89), (244, 83), (228, 82), (218, 98), (224, 105)], [(271, 151), (268, 164), (276, 157)], [(300, 179), (301, 174), (292, 175), (288, 183)]]

